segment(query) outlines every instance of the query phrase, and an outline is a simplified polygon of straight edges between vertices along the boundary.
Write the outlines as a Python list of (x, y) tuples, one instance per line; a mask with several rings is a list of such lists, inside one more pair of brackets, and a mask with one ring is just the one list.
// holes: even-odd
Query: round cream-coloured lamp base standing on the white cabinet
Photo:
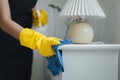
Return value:
[(90, 43), (93, 40), (94, 32), (89, 24), (81, 22), (71, 26), (69, 36), (73, 43)]

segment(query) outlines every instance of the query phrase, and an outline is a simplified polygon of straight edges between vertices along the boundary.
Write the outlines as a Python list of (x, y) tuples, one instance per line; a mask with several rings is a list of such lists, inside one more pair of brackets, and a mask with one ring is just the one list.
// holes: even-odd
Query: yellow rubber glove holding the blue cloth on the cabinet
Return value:
[(30, 49), (37, 49), (44, 57), (55, 55), (52, 45), (60, 44), (59, 38), (46, 37), (32, 29), (25, 28), (20, 32), (20, 44)]

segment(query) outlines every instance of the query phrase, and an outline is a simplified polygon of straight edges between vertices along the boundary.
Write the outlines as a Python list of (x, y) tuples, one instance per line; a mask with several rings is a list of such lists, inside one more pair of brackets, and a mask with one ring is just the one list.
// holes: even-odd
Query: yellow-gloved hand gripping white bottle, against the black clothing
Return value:
[(33, 10), (32, 17), (33, 26), (36, 28), (39, 26), (45, 26), (48, 23), (48, 14), (45, 10)]

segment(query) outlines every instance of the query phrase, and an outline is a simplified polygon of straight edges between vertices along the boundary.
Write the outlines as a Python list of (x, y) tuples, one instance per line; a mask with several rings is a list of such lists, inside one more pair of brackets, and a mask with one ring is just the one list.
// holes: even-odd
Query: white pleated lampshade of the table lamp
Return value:
[(105, 17), (97, 0), (68, 0), (61, 10), (60, 15)]

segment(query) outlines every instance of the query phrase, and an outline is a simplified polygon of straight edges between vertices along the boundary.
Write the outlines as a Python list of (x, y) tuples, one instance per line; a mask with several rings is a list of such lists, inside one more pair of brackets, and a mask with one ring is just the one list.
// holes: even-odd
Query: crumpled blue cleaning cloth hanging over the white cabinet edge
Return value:
[(52, 46), (53, 50), (56, 52), (56, 55), (51, 57), (46, 57), (48, 61), (47, 68), (53, 74), (53, 76), (58, 75), (60, 72), (64, 72), (64, 65), (62, 60), (62, 51), (58, 49), (59, 46), (70, 44), (72, 40), (61, 40), (61, 44)]

